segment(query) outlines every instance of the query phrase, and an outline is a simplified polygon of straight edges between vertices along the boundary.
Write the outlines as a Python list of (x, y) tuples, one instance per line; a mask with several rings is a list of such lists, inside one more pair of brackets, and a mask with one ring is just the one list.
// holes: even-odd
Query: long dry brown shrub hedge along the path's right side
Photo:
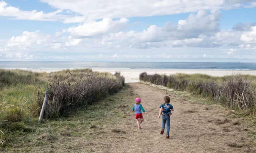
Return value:
[(223, 104), (224, 106), (248, 110), (249, 114), (254, 114), (256, 91), (247, 77), (250, 78), (250, 76), (232, 75), (224, 76), (217, 80), (214, 77), (210, 79), (211, 76), (201, 74), (176, 74), (170, 76), (158, 74), (148, 75), (146, 72), (140, 74), (141, 81), (176, 90), (186, 90), (192, 94), (208, 97), (210, 100)]

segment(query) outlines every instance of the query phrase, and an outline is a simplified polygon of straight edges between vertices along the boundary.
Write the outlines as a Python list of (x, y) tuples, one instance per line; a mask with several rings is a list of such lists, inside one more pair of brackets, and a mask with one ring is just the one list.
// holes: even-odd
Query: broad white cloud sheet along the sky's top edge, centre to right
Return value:
[[(41, 0), (54, 8), (71, 10), (88, 17), (89, 20), (110, 18), (131, 18), (135, 16), (171, 15), (179, 13), (197, 12), (198, 10), (232, 9), (239, 7), (253, 7), (253, 0), (148, 0), (139, 2), (127, 1), (84, 1), (84, 0)], [(136, 5), (135, 5), (136, 4)]]

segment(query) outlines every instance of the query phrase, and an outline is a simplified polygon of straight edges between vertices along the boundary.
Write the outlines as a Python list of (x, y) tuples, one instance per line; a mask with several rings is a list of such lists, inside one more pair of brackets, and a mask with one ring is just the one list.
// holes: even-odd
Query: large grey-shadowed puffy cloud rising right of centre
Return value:
[(210, 40), (211, 36), (219, 31), (220, 12), (200, 10), (192, 13), (185, 20), (179, 20), (172, 26), (170, 22), (163, 27), (151, 25), (142, 32), (118, 32), (104, 35), (101, 43), (106, 46), (126, 48), (151, 48), (151, 47), (215, 47)]

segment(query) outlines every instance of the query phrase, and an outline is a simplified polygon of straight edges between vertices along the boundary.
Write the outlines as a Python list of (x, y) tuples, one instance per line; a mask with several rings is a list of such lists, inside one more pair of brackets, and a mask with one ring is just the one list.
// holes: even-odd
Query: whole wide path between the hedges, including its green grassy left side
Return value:
[[(159, 106), (169, 95), (175, 111), (170, 139), (160, 135)], [(140, 97), (148, 114), (137, 129), (132, 106)], [(186, 92), (128, 83), (120, 92), (31, 134), (7, 151), (28, 152), (255, 152), (255, 123), (236, 111), (203, 104)], [(48, 126), (48, 122), (45, 123)], [(28, 137), (29, 138), (29, 137)], [(27, 138), (27, 139), (28, 139)], [(14, 150), (13, 150), (14, 149)]]

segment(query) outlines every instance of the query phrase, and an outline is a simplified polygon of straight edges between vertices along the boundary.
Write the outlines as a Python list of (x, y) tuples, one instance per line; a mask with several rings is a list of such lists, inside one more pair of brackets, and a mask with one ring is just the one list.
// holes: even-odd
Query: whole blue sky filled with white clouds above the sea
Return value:
[(0, 0), (0, 61), (256, 62), (256, 0)]

